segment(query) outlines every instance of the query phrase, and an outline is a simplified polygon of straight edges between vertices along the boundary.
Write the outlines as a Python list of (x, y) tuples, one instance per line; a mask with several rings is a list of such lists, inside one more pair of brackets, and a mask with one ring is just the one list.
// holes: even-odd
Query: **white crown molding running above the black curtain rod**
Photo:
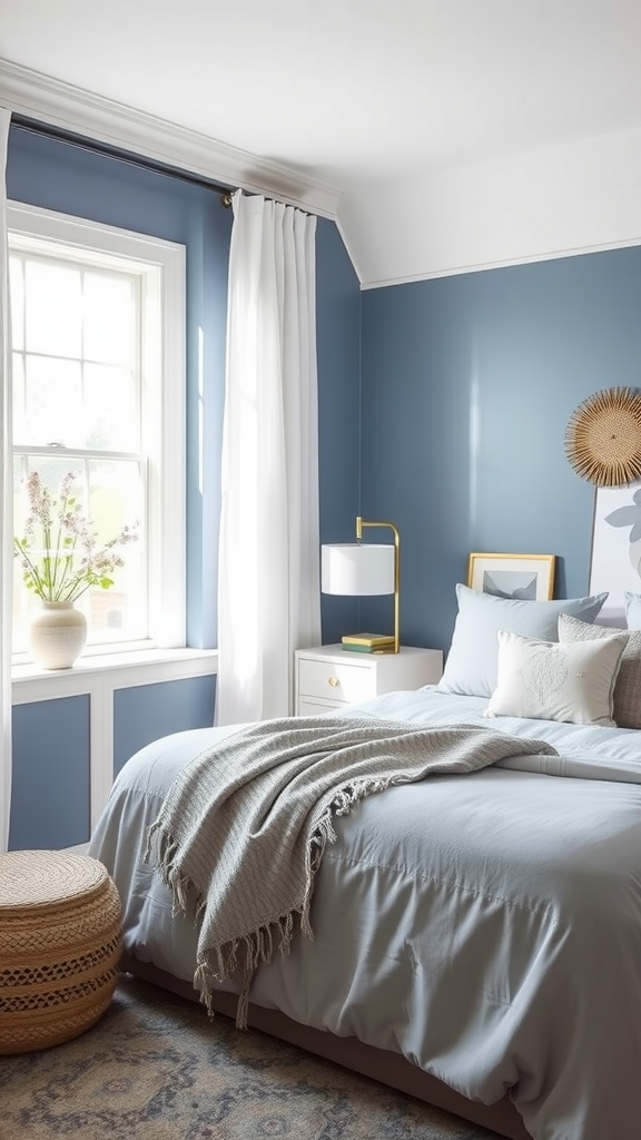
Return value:
[(0, 104), (84, 138), (335, 219), (336, 187), (6, 59), (0, 59)]

